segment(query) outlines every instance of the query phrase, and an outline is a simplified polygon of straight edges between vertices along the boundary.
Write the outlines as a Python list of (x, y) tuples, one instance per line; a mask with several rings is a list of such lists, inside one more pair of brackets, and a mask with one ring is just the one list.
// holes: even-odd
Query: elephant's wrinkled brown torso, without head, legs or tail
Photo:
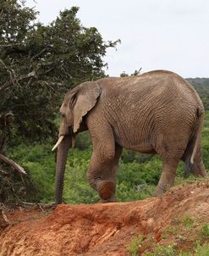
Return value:
[[(194, 128), (201, 99), (190, 83), (168, 71), (108, 78), (102, 87), (99, 111), (113, 127), (116, 141), (123, 147), (151, 152), (157, 137), (184, 137)], [(129, 146), (131, 145), (131, 147)]]

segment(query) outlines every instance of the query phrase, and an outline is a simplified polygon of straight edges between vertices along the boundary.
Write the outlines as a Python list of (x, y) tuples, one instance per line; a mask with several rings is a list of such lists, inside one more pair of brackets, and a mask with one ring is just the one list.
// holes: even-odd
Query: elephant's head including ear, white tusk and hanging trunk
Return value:
[(96, 104), (101, 88), (96, 82), (85, 82), (67, 92), (60, 108), (62, 121), (59, 128), (58, 158), (55, 181), (56, 203), (62, 203), (63, 176), (71, 139), (82, 130), (82, 119)]

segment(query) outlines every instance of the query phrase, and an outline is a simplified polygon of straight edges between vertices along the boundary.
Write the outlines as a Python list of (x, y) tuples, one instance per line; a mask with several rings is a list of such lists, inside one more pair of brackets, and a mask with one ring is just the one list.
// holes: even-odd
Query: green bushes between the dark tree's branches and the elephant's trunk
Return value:
[(30, 201), (51, 203), (54, 201), (55, 156), (52, 144), (19, 145), (10, 157), (22, 165), (30, 181), (36, 187), (36, 194), (31, 193)]

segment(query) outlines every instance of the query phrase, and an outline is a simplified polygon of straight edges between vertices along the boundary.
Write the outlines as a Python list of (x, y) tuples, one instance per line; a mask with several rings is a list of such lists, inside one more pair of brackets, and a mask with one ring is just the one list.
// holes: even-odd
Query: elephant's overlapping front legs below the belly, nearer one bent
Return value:
[(99, 193), (102, 203), (115, 201), (116, 170), (123, 148), (114, 141), (94, 145), (87, 173), (91, 186)]

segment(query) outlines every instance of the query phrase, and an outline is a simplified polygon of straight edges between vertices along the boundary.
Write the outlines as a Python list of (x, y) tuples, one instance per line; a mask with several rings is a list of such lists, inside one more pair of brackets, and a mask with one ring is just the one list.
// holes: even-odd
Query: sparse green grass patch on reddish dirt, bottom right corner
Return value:
[(162, 240), (159, 243), (150, 239), (151, 234), (133, 237), (126, 248), (129, 255), (135, 256), (142, 252), (143, 256), (209, 255), (208, 223), (202, 223), (203, 219), (201, 218), (193, 219), (190, 214), (184, 214), (173, 221), (173, 224), (168, 225), (162, 232)]

